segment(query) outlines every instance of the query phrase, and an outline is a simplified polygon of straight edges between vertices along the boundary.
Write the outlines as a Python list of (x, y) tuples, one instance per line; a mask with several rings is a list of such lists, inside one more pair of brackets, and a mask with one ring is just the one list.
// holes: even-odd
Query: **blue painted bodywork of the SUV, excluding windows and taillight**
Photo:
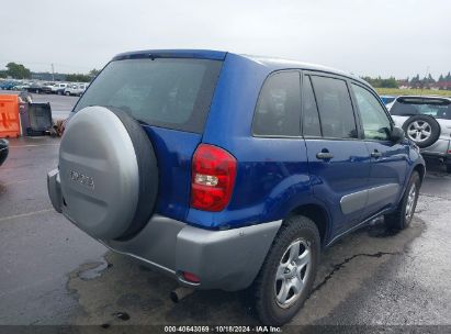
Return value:
[[(326, 141), (296, 137), (258, 137), (251, 132), (253, 111), (266, 78), (273, 71), (295, 69), (331, 73), (346, 80), (367, 82), (325, 67), (297, 62), (257, 58), (214, 51), (144, 51), (114, 59), (187, 57), (223, 62), (202, 134), (143, 125), (160, 170), (157, 213), (211, 230), (235, 229), (283, 220), (301, 205), (315, 205), (327, 218), (327, 244), (380, 210), (394, 209), (413, 168), (422, 158), (408, 142), (370, 143), (363, 140)], [(212, 144), (237, 159), (232, 200), (221, 212), (190, 208), (191, 163), (196, 147)], [(330, 162), (318, 160), (323, 148), (334, 151)], [(383, 157), (375, 162), (370, 152)], [(370, 208), (343, 214), (340, 199), (372, 187), (396, 183), (399, 191)]]

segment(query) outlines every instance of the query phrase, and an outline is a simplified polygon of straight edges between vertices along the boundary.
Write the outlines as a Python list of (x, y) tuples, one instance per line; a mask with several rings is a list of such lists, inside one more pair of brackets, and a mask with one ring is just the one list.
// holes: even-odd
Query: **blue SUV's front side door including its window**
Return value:
[(408, 145), (391, 141), (393, 122), (375, 94), (358, 82), (352, 82), (351, 88), (371, 155), (365, 210), (365, 215), (371, 215), (396, 202), (406, 177)]

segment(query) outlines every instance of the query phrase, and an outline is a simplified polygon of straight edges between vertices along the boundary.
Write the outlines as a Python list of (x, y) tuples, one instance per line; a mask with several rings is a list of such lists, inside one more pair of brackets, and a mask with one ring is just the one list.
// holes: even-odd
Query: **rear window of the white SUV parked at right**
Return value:
[(430, 115), (451, 120), (451, 101), (443, 99), (398, 98), (390, 110), (392, 115)]

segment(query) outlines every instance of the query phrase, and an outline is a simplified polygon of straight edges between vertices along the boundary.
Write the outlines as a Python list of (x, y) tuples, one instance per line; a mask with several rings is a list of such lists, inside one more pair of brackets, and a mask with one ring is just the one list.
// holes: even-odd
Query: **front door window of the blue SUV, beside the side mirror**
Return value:
[(392, 123), (377, 99), (370, 91), (354, 84), (352, 84), (352, 91), (362, 118), (365, 140), (390, 140)]

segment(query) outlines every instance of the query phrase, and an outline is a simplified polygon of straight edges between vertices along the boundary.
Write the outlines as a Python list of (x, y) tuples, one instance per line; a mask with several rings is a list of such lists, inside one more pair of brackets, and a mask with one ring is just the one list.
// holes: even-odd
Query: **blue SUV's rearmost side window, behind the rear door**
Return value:
[(282, 71), (263, 84), (252, 131), (257, 135), (300, 135), (301, 85), (297, 71)]

